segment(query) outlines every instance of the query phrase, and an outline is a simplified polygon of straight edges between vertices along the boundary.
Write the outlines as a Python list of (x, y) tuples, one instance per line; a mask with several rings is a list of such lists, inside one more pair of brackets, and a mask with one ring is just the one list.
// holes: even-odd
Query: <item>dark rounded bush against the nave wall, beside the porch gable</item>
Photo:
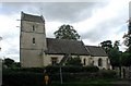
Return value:
[(80, 57), (70, 58), (70, 59), (67, 61), (66, 65), (81, 66), (82, 63), (81, 63)]

